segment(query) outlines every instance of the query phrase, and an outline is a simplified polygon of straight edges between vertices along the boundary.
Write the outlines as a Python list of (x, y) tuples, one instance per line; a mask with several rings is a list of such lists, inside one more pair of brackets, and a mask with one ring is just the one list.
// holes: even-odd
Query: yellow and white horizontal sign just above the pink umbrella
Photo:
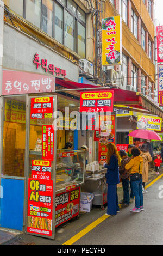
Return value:
[(150, 115), (138, 115), (137, 128), (161, 131), (162, 118), (151, 117)]

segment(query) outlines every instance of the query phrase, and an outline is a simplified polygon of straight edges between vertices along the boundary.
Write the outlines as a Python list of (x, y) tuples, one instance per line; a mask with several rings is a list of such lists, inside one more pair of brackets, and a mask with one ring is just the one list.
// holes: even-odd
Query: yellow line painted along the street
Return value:
[[(152, 186), (157, 180), (163, 177), (163, 174), (159, 175), (156, 179), (151, 181), (145, 188)], [(98, 218), (96, 221), (93, 221), (90, 225), (88, 225), (86, 228), (84, 228), (82, 231), (80, 231), (78, 234), (71, 237), (71, 239), (67, 240), (62, 245), (73, 245), (74, 242), (78, 241), (81, 237), (89, 233), (93, 228), (95, 228), (98, 224), (102, 223), (106, 220), (106, 218), (110, 217), (111, 215), (103, 215), (100, 218)]]

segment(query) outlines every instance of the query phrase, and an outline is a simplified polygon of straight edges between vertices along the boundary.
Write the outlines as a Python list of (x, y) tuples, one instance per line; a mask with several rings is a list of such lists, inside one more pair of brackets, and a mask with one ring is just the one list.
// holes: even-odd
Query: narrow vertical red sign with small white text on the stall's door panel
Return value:
[(53, 161), (54, 159), (54, 130), (53, 125), (42, 126), (42, 158)]

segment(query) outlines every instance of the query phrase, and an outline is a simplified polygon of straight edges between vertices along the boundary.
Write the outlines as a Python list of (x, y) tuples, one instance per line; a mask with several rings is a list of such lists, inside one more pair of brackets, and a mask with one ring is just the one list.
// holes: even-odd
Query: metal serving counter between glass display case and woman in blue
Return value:
[(87, 170), (85, 183), (82, 186), (83, 192), (93, 193), (93, 205), (100, 205), (104, 210), (104, 205), (107, 203), (107, 190), (105, 173), (107, 168), (99, 167), (99, 170)]

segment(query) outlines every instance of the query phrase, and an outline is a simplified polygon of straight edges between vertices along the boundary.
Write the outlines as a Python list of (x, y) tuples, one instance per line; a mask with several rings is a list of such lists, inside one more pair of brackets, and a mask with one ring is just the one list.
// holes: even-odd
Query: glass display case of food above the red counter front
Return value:
[(86, 152), (77, 150), (57, 150), (56, 192), (66, 187), (80, 186), (85, 178)]

